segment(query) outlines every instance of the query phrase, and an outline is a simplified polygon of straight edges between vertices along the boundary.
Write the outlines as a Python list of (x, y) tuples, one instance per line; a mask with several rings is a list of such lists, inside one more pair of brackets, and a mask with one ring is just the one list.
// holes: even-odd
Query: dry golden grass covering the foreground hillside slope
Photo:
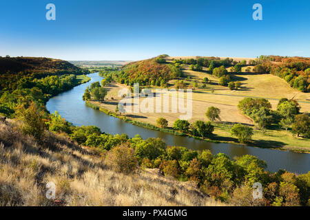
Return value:
[[(165, 178), (158, 170), (116, 173), (103, 157), (45, 132), (45, 146), (0, 124), (0, 206), (223, 206), (189, 182)], [(45, 197), (48, 182), (56, 199)]]

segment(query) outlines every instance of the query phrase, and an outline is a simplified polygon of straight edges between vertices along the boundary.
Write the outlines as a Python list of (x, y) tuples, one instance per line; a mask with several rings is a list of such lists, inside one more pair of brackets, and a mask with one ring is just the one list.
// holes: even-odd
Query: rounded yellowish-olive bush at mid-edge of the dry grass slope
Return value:
[(138, 168), (138, 161), (134, 156), (134, 149), (128, 144), (121, 144), (112, 148), (105, 157), (107, 164), (119, 173), (133, 173)]

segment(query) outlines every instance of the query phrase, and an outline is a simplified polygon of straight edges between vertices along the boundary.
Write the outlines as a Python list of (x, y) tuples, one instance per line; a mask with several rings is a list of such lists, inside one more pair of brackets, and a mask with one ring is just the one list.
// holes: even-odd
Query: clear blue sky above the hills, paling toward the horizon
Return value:
[[(56, 21), (45, 5), (56, 5)], [(252, 6), (262, 4), (262, 21)], [(310, 1), (10, 0), (0, 56), (139, 60), (170, 56), (310, 56)]]

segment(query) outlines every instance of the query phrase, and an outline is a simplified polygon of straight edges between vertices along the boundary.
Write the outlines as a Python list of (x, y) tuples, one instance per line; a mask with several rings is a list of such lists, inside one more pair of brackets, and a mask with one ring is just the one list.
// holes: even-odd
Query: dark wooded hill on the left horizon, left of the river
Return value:
[(43, 57), (0, 57), (1, 74), (83, 74), (68, 61)]

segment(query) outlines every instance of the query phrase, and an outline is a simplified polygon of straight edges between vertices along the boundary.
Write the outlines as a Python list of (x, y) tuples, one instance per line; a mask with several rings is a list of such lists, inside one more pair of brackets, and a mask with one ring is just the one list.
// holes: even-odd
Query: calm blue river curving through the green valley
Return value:
[(101, 81), (103, 78), (96, 74), (89, 74), (92, 80), (83, 85), (74, 87), (70, 91), (65, 91), (58, 96), (51, 98), (46, 107), (48, 111), (54, 113), (59, 111), (60, 115), (72, 122), (76, 126), (94, 125), (98, 126), (105, 133), (126, 133), (130, 137), (140, 134), (141, 137), (161, 137), (168, 145), (186, 146), (193, 150), (209, 149), (213, 154), (225, 153), (230, 158), (240, 157), (242, 155), (254, 155), (267, 162), (267, 170), (276, 172), (279, 169), (286, 169), (293, 173), (307, 173), (310, 170), (310, 154), (293, 153), (290, 151), (278, 151), (267, 148), (255, 148), (239, 144), (212, 143), (195, 140), (192, 137), (180, 137), (153, 131), (125, 123), (118, 118), (106, 115), (105, 113), (91, 109), (85, 105), (82, 99), (84, 90), (91, 83)]

